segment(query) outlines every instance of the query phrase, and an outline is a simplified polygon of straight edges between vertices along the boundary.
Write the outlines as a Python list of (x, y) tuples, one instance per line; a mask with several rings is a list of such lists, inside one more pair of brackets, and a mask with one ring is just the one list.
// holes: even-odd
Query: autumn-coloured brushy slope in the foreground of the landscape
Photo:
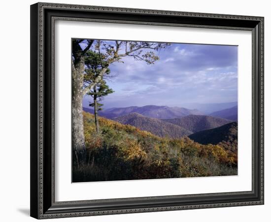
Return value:
[(83, 114), (87, 160), (78, 166), (73, 156), (72, 182), (237, 175), (237, 155), (227, 147), (161, 138), (102, 117), (97, 134), (94, 116)]

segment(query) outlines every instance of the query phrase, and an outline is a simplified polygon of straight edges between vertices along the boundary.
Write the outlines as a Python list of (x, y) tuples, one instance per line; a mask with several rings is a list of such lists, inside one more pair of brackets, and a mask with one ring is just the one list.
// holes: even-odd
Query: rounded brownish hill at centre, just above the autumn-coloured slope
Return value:
[(146, 117), (136, 112), (113, 118), (122, 124), (132, 125), (159, 137), (181, 138), (193, 132), (160, 119)]

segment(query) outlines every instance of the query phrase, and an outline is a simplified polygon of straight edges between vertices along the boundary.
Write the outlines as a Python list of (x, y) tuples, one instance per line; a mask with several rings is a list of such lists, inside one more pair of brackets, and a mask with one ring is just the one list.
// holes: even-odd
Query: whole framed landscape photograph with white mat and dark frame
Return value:
[(31, 5), (31, 216), (264, 204), (264, 18)]

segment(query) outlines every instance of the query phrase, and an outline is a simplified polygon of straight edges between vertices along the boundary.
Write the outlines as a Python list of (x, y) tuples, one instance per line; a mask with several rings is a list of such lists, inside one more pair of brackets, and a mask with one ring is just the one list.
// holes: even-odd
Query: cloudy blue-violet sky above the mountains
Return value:
[[(101, 101), (104, 109), (237, 101), (237, 46), (171, 43), (156, 54), (154, 65), (125, 57), (109, 66), (114, 93)], [(89, 101), (85, 96), (83, 106)]]

